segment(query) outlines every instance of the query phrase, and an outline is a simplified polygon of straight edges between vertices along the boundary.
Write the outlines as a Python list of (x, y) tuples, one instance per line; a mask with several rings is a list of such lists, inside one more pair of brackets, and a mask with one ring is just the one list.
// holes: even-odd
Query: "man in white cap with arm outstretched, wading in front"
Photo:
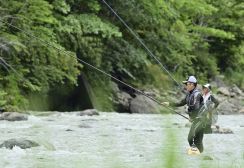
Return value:
[(185, 99), (183, 99), (179, 103), (170, 103), (170, 105), (175, 107), (184, 106), (184, 105), (188, 106), (187, 111), (190, 117), (190, 121), (192, 122), (191, 129), (188, 134), (188, 142), (191, 147), (189, 150), (192, 150), (193, 153), (196, 152), (197, 154), (199, 153), (199, 151), (203, 152), (202, 140), (203, 140), (204, 128), (202, 122), (198, 118), (199, 110), (203, 105), (203, 97), (200, 91), (196, 88), (197, 79), (194, 76), (190, 76), (187, 79), (187, 81), (183, 81), (183, 83), (186, 85), (186, 90), (187, 90), (187, 95)]

